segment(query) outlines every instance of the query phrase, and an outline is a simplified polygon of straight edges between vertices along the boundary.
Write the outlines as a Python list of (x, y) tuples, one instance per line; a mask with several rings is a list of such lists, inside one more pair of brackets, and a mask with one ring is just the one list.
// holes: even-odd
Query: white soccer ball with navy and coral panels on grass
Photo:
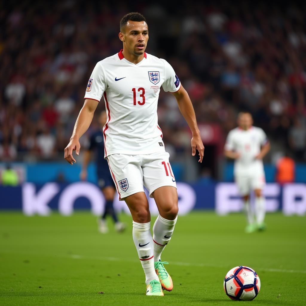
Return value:
[(230, 299), (249, 301), (259, 293), (260, 279), (257, 273), (249, 267), (234, 267), (226, 273), (223, 287)]

